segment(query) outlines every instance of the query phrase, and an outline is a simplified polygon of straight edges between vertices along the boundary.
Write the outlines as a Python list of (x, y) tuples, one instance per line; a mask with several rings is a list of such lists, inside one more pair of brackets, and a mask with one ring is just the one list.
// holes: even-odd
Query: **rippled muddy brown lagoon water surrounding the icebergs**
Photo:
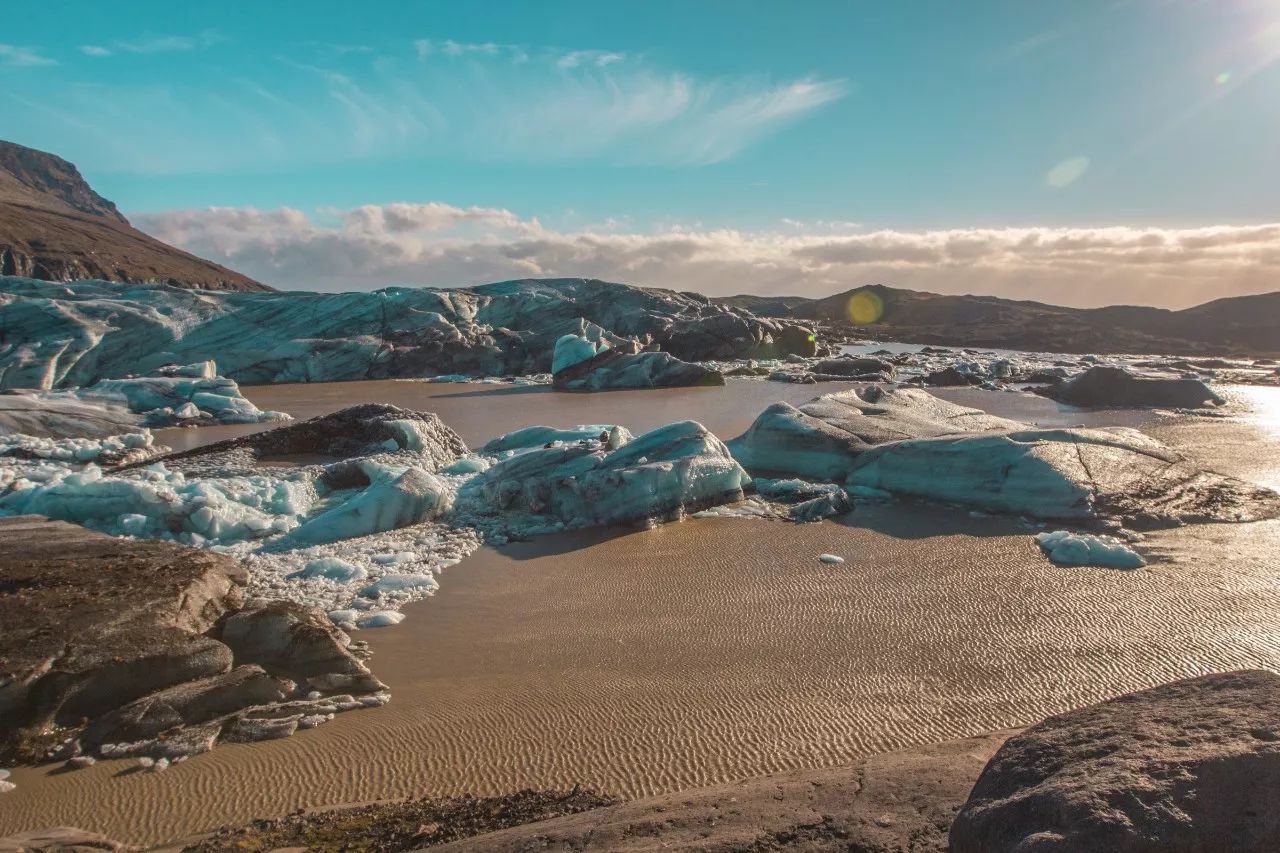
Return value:
[[(470, 443), (530, 423), (640, 430), (676, 418), (732, 435), (773, 398), (817, 393), (750, 382), (404, 393), (424, 388), (430, 405), (402, 405), (440, 412)], [(275, 394), (296, 391), (273, 388), (269, 405), (288, 410)], [(316, 406), (376, 393), (348, 386)], [(980, 400), (996, 414), (1084, 420), (1048, 401)], [(1188, 439), (1226, 473), (1280, 467), (1280, 442), (1257, 424), (1089, 418)], [(1183, 528), (1144, 547), (1155, 560), (1142, 571), (1061, 569), (1007, 520), (901, 503), (813, 525), (695, 519), (484, 548), (402, 625), (364, 634), (389, 706), (165, 774), (23, 768), (0, 798), (0, 831), (73, 824), (148, 843), (416, 794), (584, 783), (634, 797), (1024, 725), (1184, 675), (1280, 670), (1280, 523)], [(826, 566), (822, 552), (847, 562)]]

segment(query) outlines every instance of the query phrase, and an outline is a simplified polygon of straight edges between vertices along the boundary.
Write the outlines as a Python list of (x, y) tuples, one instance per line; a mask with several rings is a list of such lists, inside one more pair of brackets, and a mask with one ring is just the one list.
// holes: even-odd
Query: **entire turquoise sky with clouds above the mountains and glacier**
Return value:
[(301, 289), (1280, 289), (1280, 0), (0, 0), (0, 138)]

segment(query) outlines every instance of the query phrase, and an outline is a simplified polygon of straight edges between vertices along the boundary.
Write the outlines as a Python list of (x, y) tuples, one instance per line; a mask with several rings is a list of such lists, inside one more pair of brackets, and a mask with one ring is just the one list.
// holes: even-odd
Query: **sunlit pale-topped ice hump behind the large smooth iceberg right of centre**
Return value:
[(728, 442), (753, 474), (842, 482), (864, 451), (886, 442), (1020, 426), (916, 388), (869, 388), (823, 394), (799, 409), (780, 402)]

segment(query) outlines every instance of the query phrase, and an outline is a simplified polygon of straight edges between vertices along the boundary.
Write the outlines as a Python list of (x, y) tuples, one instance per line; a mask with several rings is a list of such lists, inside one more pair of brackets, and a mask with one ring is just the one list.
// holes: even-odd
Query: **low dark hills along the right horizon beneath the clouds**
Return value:
[[(714, 301), (758, 316), (824, 321), (868, 337), (913, 343), (1047, 352), (1280, 355), (1280, 292), (1221, 298), (1181, 311), (1129, 305), (1073, 309), (883, 284), (818, 300), (727, 296)], [(851, 311), (851, 306), (858, 310)], [(872, 320), (874, 314), (878, 318)]]

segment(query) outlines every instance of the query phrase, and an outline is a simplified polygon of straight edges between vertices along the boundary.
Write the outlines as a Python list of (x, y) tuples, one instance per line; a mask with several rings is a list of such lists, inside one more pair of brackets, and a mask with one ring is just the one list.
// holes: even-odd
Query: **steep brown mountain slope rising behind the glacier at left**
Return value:
[(96, 278), (216, 291), (269, 291), (253, 279), (133, 228), (79, 170), (0, 141), (0, 274)]

